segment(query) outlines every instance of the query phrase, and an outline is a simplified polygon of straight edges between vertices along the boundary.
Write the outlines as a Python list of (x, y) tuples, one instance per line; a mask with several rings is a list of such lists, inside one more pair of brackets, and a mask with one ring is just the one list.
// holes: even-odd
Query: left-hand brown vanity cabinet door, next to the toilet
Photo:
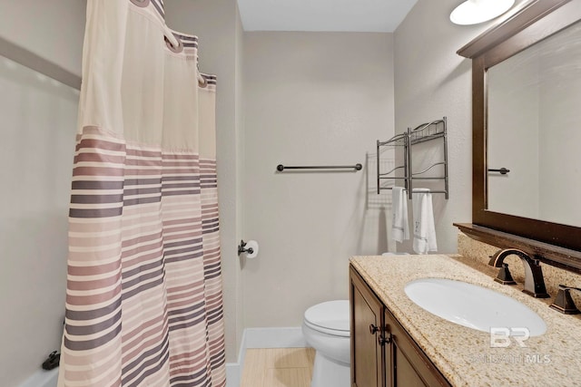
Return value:
[(378, 343), (383, 305), (350, 270), (351, 386), (383, 387), (382, 346)]

